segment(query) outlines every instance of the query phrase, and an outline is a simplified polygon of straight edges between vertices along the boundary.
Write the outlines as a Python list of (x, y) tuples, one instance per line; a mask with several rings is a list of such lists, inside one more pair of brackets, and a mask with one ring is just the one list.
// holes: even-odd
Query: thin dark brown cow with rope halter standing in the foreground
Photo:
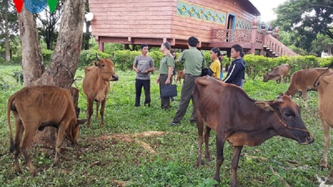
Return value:
[(201, 147), (205, 123), (205, 159), (208, 161), (209, 132), (211, 129), (216, 132), (217, 160), (214, 179), (218, 183), (226, 140), (235, 147), (231, 186), (237, 186), (239, 155), (244, 145), (261, 145), (276, 135), (296, 140), (301, 145), (314, 141), (300, 117), (300, 108), (293, 103), (290, 96), (278, 97), (273, 101), (255, 101), (238, 86), (225, 84), (212, 77), (199, 77), (195, 82), (192, 96), (199, 145), (196, 166), (202, 164)]

